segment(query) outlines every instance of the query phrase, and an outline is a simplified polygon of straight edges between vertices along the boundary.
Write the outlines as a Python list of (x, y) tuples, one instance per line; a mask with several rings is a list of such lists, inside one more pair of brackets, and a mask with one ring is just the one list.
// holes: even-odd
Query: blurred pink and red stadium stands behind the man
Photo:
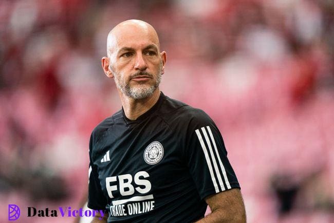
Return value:
[(130, 18), (168, 52), (162, 91), (219, 127), (248, 222), (334, 222), (330, 0), (0, 1), (0, 222), (80, 208), (90, 132), (120, 109), (106, 35)]

